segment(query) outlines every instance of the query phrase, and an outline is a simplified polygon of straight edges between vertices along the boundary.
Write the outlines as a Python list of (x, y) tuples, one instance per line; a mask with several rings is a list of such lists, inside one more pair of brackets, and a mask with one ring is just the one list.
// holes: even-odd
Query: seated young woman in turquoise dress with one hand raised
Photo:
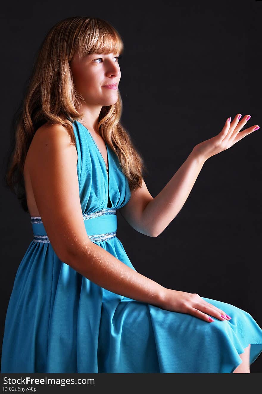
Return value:
[(153, 198), (119, 121), (122, 52), (115, 28), (93, 17), (57, 23), (39, 50), (7, 172), (33, 240), (7, 309), (1, 372), (248, 373), (262, 351), (252, 316), (139, 274), (116, 211), (158, 236), (204, 162), (258, 127), (239, 133), (250, 116), (227, 119)]

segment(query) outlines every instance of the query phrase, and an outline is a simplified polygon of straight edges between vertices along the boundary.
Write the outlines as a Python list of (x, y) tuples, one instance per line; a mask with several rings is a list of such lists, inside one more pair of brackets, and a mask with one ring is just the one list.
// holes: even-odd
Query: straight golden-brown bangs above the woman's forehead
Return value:
[(123, 53), (124, 44), (119, 33), (104, 20), (89, 20), (87, 29), (80, 37), (80, 58), (96, 53), (105, 55)]

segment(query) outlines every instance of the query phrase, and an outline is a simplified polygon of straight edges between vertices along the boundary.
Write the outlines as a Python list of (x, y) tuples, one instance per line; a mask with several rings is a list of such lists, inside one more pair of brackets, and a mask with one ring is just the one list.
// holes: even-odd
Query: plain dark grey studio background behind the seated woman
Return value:
[[(261, 8), (251, 2), (12, 2), (2, 12), (2, 175), (11, 122), (48, 30), (71, 16), (106, 19), (124, 41), (122, 123), (143, 156), (155, 197), (193, 147), (237, 113), (260, 129), (210, 158), (177, 217), (157, 238), (118, 213), (117, 236), (137, 271), (175, 290), (261, 313)], [(1, 184), (2, 186), (2, 184)], [(30, 217), (2, 186), (1, 344)], [(227, 312), (225, 310), (225, 312)], [(251, 365), (262, 372), (262, 357)]]

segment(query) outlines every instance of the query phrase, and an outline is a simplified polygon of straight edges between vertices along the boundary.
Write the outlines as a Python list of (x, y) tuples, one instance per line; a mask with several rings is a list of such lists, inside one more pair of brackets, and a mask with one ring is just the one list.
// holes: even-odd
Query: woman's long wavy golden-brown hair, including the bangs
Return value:
[[(24, 185), (24, 163), (36, 130), (44, 123), (63, 125), (76, 145), (72, 121), (80, 120), (80, 100), (75, 90), (70, 62), (76, 52), (80, 58), (94, 53), (119, 53), (124, 50), (117, 30), (107, 21), (95, 17), (70, 17), (55, 24), (41, 43), (28, 87), (17, 119), (13, 119), (14, 136), (9, 154), (5, 186), (9, 187), (28, 212)], [(103, 106), (98, 132), (119, 158), (130, 190), (141, 188), (143, 159), (131, 142), (130, 135), (120, 123), (122, 99), (118, 90), (117, 102)]]

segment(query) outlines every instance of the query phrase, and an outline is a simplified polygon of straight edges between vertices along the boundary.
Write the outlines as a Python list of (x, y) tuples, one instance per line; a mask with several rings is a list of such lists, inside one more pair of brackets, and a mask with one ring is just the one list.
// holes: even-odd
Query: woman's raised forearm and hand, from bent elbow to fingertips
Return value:
[(250, 116), (245, 115), (239, 122), (240, 117), (241, 114), (237, 114), (232, 123), (230, 123), (231, 118), (228, 118), (217, 136), (196, 145), (164, 189), (145, 206), (143, 223), (149, 223), (152, 236), (156, 237), (161, 234), (177, 216), (188, 198), (204, 162), (211, 156), (229, 149), (247, 134), (259, 128), (255, 125), (239, 133)]

